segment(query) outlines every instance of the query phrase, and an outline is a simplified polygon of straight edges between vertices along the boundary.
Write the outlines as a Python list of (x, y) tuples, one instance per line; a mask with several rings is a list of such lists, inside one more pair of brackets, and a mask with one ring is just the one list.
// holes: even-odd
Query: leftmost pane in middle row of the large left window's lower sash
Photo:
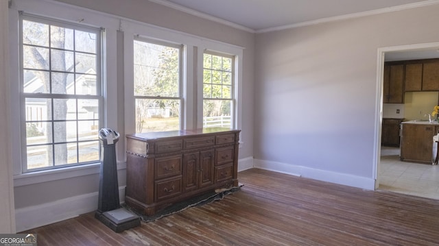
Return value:
[(28, 122), (26, 123), (26, 143), (27, 145), (41, 145), (52, 143), (52, 123), (51, 122)]

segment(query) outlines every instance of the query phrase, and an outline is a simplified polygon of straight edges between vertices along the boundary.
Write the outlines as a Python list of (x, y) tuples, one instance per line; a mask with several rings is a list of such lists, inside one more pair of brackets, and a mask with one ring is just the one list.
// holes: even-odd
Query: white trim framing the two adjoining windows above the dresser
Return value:
[[(142, 36), (152, 40), (161, 40), (163, 42), (184, 45), (183, 51), (183, 129), (193, 130), (202, 128), (202, 103), (195, 104), (196, 101), (202, 101), (202, 72), (203, 71), (203, 53), (205, 49), (217, 51), (219, 53), (230, 54), (235, 56), (235, 122), (234, 126), (241, 129), (242, 121), (242, 66), (244, 48), (237, 45), (230, 45), (217, 40), (210, 40), (178, 32), (163, 27), (156, 27), (147, 23), (123, 19), (121, 28), (124, 32), (124, 75), (125, 75), (125, 131), (126, 133), (135, 132), (134, 122), (134, 56), (132, 43), (134, 37)], [(197, 56), (194, 56), (197, 51)], [(199, 71), (195, 73), (195, 71)], [(195, 92), (197, 92), (195, 94)], [(201, 92), (201, 93), (200, 93)], [(193, 96), (195, 95), (195, 96)], [(241, 143), (242, 144), (242, 143)]]

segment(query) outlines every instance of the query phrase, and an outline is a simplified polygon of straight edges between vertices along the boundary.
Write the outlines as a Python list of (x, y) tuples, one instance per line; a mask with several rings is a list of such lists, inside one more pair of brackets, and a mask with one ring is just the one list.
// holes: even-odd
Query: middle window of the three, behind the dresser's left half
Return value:
[(136, 132), (180, 130), (181, 52), (177, 45), (134, 40)]

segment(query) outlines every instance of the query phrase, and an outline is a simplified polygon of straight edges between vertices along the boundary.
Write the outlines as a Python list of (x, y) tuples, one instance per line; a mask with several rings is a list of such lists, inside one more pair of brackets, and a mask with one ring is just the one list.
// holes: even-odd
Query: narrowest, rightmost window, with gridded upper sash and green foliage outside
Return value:
[(206, 51), (203, 56), (203, 128), (232, 128), (234, 57)]

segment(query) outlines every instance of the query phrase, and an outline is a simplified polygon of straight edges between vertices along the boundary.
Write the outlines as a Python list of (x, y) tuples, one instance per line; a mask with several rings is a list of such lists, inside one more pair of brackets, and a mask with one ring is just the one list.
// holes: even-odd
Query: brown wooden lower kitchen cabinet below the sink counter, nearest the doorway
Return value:
[(416, 121), (401, 124), (401, 160), (431, 164), (433, 136), (438, 134), (438, 123)]

